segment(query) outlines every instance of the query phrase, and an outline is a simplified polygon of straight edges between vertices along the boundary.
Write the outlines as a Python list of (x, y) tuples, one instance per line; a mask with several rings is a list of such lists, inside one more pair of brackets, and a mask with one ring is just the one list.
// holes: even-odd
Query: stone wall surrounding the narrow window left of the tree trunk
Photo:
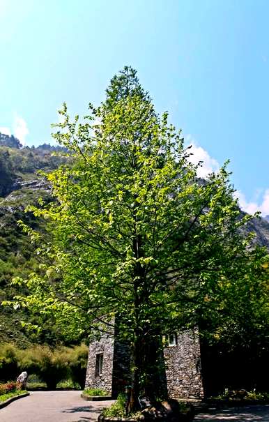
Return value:
[[(97, 354), (103, 354), (101, 375), (98, 375), (95, 369)], [(113, 360), (114, 337), (107, 334), (102, 336), (99, 341), (91, 342), (86, 371), (86, 389), (98, 388), (105, 390), (109, 395), (112, 395)]]

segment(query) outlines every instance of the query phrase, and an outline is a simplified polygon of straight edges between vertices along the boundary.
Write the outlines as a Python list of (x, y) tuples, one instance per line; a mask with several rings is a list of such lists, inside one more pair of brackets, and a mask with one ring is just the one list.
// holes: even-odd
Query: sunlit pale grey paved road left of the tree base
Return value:
[(86, 402), (80, 391), (33, 391), (0, 409), (1, 422), (93, 422), (111, 401)]

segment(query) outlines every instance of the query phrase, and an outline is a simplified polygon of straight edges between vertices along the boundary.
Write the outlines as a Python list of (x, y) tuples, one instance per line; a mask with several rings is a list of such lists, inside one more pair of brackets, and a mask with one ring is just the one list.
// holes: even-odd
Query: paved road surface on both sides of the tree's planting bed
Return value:
[[(0, 409), (0, 422), (93, 422), (111, 403), (86, 402), (79, 391), (34, 391)], [(212, 410), (194, 418), (194, 422), (205, 421), (269, 422), (269, 405)]]

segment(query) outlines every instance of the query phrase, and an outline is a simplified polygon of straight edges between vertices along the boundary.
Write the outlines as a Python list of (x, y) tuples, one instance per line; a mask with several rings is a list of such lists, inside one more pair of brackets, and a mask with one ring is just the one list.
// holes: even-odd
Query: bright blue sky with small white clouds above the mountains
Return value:
[(247, 211), (269, 214), (269, 1), (0, 0), (0, 131), (50, 124), (104, 98), (126, 64), (206, 169), (231, 160)]

